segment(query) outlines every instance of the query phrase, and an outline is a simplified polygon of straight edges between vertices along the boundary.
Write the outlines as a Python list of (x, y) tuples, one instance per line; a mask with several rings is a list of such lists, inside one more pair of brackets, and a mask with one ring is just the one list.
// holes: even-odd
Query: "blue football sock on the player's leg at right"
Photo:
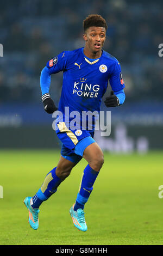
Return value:
[(74, 211), (78, 209), (84, 209), (84, 205), (90, 197), (90, 194), (93, 190), (93, 184), (97, 178), (99, 172), (93, 170), (89, 164), (84, 169), (83, 178), (81, 186), (79, 188), (79, 193), (77, 195), (76, 203), (74, 205)]

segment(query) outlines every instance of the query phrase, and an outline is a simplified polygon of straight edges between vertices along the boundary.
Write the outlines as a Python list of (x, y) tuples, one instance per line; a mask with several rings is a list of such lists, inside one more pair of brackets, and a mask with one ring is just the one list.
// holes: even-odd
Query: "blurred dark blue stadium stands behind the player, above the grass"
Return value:
[[(97, 13), (108, 23), (104, 50), (121, 63), (126, 102), (111, 109), (111, 136), (97, 132), (96, 139), (110, 152), (163, 149), (162, 7), (162, 1), (143, 0), (1, 3), (0, 148), (60, 148), (52, 116), (43, 111), (40, 72), (60, 52), (84, 46), (83, 19)], [(61, 84), (62, 73), (53, 75), (57, 104)]]

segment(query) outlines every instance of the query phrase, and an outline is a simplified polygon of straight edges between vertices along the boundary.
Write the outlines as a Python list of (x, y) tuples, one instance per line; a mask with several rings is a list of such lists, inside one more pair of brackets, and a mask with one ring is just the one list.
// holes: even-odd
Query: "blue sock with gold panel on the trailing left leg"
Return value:
[(32, 198), (31, 205), (33, 208), (39, 208), (43, 201), (47, 200), (57, 191), (57, 187), (61, 184), (62, 180), (55, 174), (56, 168), (57, 167), (53, 168), (51, 172), (46, 175), (39, 191), (37, 191)]

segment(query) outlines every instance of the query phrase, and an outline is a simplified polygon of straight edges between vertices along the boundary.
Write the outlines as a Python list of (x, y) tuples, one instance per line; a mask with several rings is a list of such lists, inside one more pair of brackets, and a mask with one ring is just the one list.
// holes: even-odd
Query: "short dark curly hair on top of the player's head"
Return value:
[(84, 32), (89, 27), (104, 27), (106, 30), (108, 28), (105, 19), (101, 15), (98, 15), (98, 14), (90, 14), (83, 21)]

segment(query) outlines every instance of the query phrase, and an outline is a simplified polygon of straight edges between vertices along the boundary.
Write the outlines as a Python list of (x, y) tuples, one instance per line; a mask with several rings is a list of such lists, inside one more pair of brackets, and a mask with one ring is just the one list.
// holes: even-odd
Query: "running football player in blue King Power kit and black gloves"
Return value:
[[(42, 102), (47, 113), (60, 111), (64, 120), (58, 119), (56, 133), (62, 143), (60, 160), (45, 177), (39, 191), (33, 197), (26, 197), (24, 204), (29, 212), (29, 224), (33, 229), (39, 227), (39, 208), (42, 202), (57, 192), (76, 164), (84, 157), (87, 166), (76, 202), (70, 208), (70, 215), (76, 228), (87, 230), (84, 206), (93, 190), (93, 184), (104, 163), (104, 155), (93, 139), (95, 120), (92, 129), (71, 129), (65, 122), (65, 107), (69, 111), (97, 111), (99, 113), (102, 97), (108, 87), (111, 93), (106, 97), (106, 107), (117, 107), (123, 104), (125, 94), (123, 88), (121, 66), (116, 58), (103, 50), (107, 25), (101, 15), (92, 14), (83, 21), (83, 39), (85, 45), (73, 51), (61, 52), (49, 60), (41, 71), (40, 86)], [(58, 108), (49, 95), (51, 75), (63, 71), (62, 91)], [(70, 120), (71, 121), (71, 120)]]

